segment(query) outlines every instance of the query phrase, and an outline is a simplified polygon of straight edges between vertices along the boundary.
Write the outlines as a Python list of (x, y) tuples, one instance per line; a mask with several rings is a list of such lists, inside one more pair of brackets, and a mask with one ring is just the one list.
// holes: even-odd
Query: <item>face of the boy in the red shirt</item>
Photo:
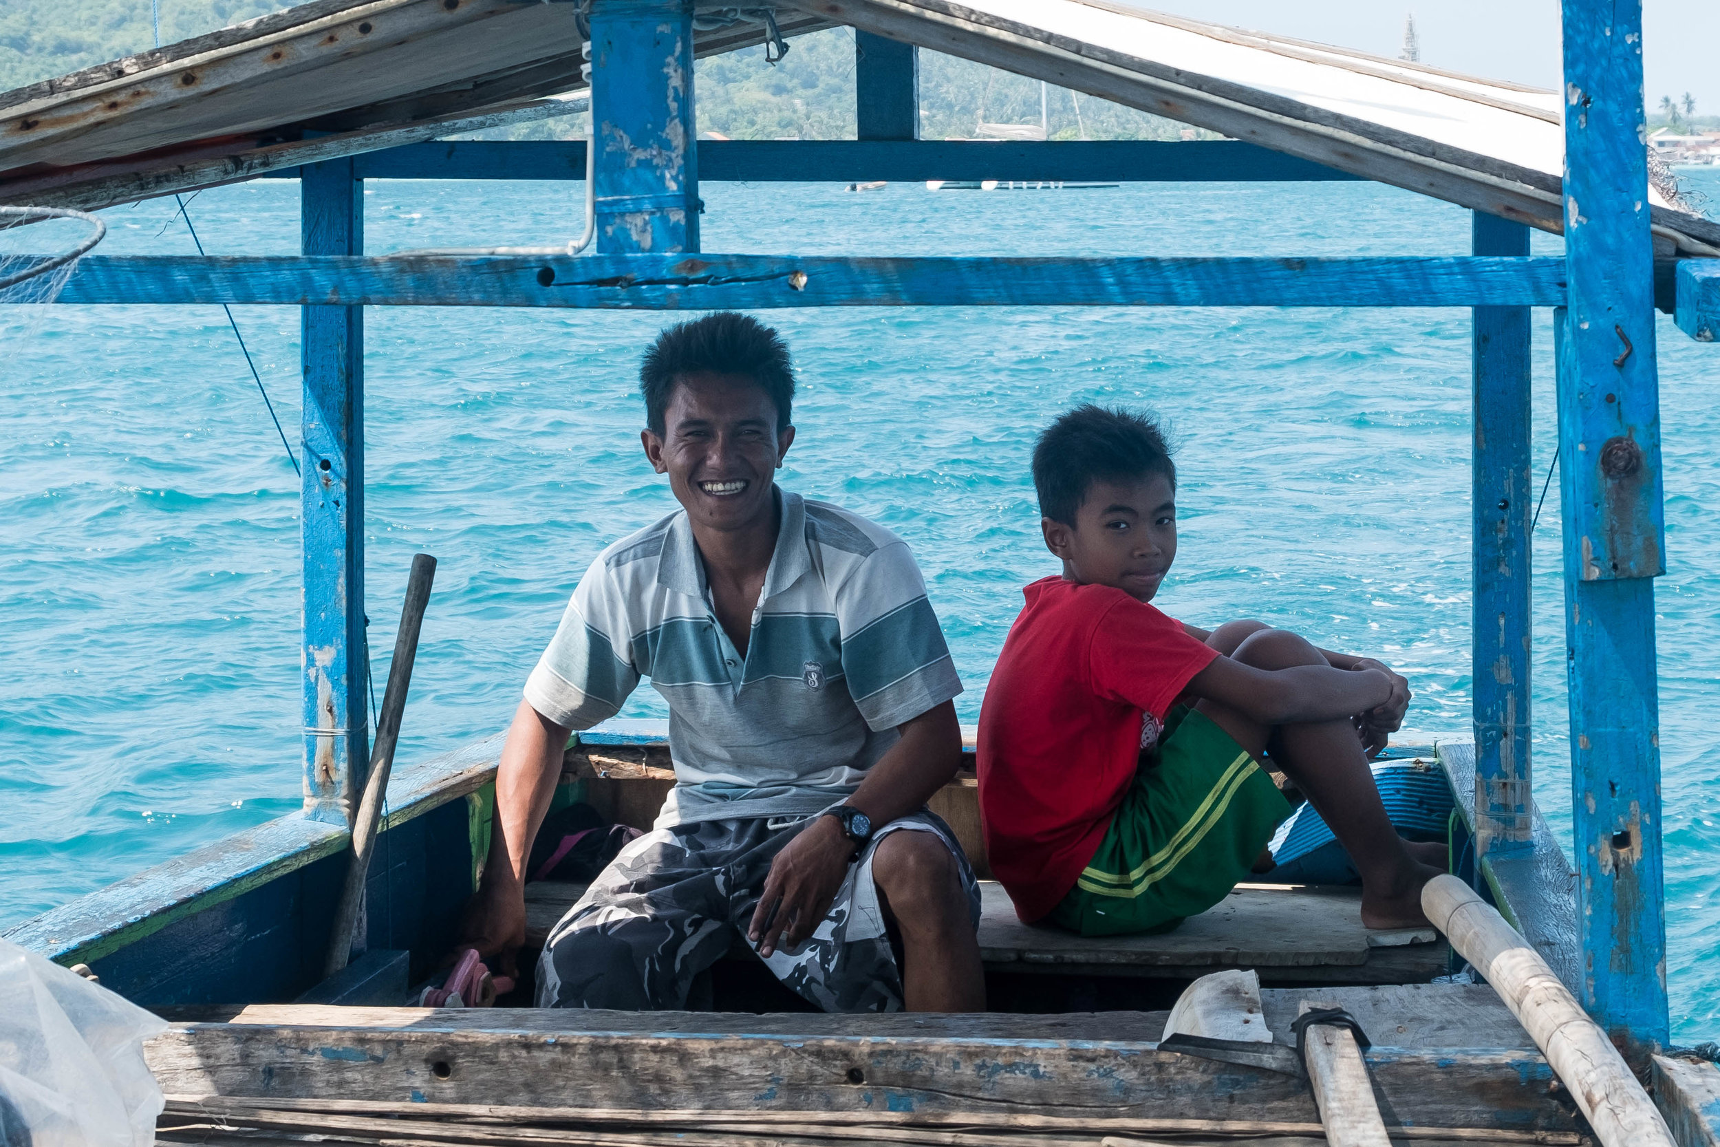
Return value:
[(1075, 511), (1075, 524), (1039, 519), (1063, 576), (1116, 586), (1151, 602), (1176, 561), (1176, 487), (1164, 475), (1099, 480)]

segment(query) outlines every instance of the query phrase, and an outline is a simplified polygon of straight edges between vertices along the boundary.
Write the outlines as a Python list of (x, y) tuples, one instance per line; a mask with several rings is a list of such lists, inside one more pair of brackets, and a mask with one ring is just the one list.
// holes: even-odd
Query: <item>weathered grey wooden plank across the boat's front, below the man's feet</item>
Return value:
[[(1140, 1040), (585, 1034), (182, 1025), (146, 1058), (177, 1095), (621, 1107), (1311, 1123), (1287, 1075)], [(1534, 1052), (1367, 1056), (1391, 1123), (1574, 1130)]]

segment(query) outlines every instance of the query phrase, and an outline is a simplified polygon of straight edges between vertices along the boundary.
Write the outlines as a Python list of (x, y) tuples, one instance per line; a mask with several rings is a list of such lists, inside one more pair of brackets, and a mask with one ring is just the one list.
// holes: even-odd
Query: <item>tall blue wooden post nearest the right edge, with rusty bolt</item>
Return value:
[(1558, 347), (1570, 784), (1584, 1006), (1667, 1040), (1655, 583), (1665, 569), (1641, 0), (1563, 0)]

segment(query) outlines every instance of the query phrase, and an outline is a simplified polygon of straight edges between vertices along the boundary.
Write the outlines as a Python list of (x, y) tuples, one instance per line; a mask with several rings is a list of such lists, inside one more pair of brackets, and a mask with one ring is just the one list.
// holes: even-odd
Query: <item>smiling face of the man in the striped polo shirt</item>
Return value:
[(795, 428), (776, 428), (776, 402), (746, 375), (676, 375), (662, 437), (640, 433), (645, 456), (695, 524), (746, 530), (771, 523), (771, 485)]

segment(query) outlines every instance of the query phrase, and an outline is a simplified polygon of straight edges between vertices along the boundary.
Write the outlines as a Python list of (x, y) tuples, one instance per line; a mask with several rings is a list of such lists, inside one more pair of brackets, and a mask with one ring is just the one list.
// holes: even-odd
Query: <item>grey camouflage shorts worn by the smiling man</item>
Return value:
[[(538, 960), (538, 1008), (683, 1009), (693, 978), (745, 937), (771, 862), (812, 820), (703, 820), (655, 829), (604, 868)], [(872, 882), (879, 841), (936, 832), (961, 870), (974, 927), (979, 884), (955, 834), (927, 810), (891, 820), (848, 867), (817, 930), (765, 966), (824, 1011), (901, 1009), (901, 972)], [(750, 941), (748, 941), (750, 942)]]

